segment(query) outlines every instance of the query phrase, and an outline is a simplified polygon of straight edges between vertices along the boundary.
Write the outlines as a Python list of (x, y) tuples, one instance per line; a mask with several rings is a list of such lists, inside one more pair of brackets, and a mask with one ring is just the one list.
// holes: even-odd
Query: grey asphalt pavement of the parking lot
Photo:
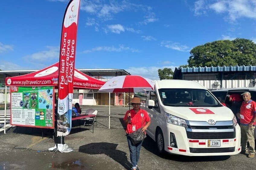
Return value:
[[(108, 128), (108, 106), (82, 106), (82, 110), (98, 110), (97, 126), (79, 129), (73, 122), (71, 133), (64, 138), (73, 149), (69, 153), (48, 151), (55, 142), (52, 130), (41, 128), (12, 127), (6, 134), (0, 133), (1, 169), (130, 169), (130, 154), (123, 126), (123, 116), (128, 107), (110, 107), (110, 129)], [(82, 122), (81, 122), (82, 123)], [(43, 135), (43, 138), (42, 138)], [(142, 144), (138, 168), (148, 169), (254, 169), (256, 158), (245, 154), (233, 156), (188, 157), (159, 155), (155, 142), (147, 137)]]

